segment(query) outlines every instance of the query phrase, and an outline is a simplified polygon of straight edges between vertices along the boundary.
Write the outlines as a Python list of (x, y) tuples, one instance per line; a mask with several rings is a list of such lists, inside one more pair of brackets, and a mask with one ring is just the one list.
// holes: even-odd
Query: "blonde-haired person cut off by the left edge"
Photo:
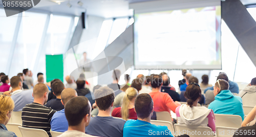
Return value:
[(17, 137), (14, 132), (8, 131), (6, 124), (9, 122), (12, 111), (14, 109), (14, 102), (10, 97), (5, 95), (0, 96), (0, 136), (1, 137)]

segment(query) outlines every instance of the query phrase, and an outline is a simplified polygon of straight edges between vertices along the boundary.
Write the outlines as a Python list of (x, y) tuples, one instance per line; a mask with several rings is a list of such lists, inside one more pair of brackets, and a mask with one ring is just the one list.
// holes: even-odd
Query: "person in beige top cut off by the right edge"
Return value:
[(255, 106), (256, 105), (256, 78), (251, 80), (249, 86), (245, 87), (240, 93), (239, 96), (243, 100), (243, 105), (245, 106)]

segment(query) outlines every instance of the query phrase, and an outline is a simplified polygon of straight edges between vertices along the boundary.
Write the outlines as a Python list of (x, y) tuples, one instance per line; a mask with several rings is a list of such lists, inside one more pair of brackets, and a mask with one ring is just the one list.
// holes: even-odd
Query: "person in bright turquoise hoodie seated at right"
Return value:
[(228, 88), (229, 84), (226, 80), (217, 80), (214, 86), (215, 100), (209, 104), (208, 108), (214, 110), (214, 113), (238, 115), (244, 120), (242, 99), (234, 96)]

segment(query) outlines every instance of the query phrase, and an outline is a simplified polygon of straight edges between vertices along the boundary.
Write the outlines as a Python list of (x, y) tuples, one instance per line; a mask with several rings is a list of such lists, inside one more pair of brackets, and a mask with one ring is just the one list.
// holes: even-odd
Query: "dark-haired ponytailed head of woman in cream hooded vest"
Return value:
[(194, 104), (194, 101), (196, 101), (198, 98), (201, 99), (202, 91), (199, 84), (190, 83), (187, 85), (186, 91), (184, 93), (184, 96), (187, 98), (187, 104), (192, 107)]

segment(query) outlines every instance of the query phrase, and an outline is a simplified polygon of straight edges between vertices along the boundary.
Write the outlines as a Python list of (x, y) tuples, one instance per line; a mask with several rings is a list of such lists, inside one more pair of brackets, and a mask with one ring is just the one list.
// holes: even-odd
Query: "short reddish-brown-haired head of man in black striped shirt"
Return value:
[(45, 93), (49, 93), (49, 89), (44, 83), (38, 83), (33, 88), (34, 99), (44, 98)]

